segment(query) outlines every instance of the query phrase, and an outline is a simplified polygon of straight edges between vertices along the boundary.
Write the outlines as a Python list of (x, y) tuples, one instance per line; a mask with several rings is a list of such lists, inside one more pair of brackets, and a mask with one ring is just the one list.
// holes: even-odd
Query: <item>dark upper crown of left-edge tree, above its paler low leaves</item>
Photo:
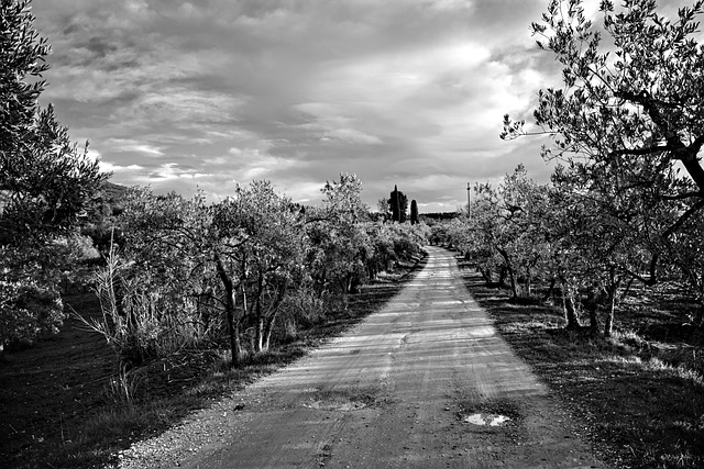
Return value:
[(29, 2), (4, 0), (0, 9), (0, 238), (43, 242), (75, 226), (107, 176), (70, 143), (53, 108), (36, 102), (50, 46), (33, 27)]

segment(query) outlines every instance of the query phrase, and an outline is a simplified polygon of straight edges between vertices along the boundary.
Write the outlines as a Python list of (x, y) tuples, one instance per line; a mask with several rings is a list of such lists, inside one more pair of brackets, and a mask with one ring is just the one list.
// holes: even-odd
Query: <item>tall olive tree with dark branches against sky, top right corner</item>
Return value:
[[(543, 157), (566, 160), (585, 190), (606, 181), (612, 194), (646, 193), (666, 204), (658, 209), (669, 213), (660, 244), (704, 206), (704, 49), (695, 21), (703, 5), (669, 20), (653, 0), (625, 0), (618, 9), (603, 0), (597, 26), (581, 0), (552, 0), (532, 31), (563, 66), (563, 86), (540, 91), (536, 127), (504, 119), (503, 138), (550, 134)], [(649, 268), (630, 273), (657, 282), (661, 253), (652, 249)]]

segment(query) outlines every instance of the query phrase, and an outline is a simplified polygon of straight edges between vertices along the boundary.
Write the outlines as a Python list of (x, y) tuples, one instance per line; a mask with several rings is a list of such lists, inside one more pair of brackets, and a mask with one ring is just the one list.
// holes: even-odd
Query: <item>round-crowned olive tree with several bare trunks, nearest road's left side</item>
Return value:
[(242, 358), (240, 328), (254, 326), (255, 351), (268, 349), (283, 300), (302, 275), (304, 217), (268, 181), (237, 187), (212, 206), (213, 260), (224, 288), (233, 362)]

